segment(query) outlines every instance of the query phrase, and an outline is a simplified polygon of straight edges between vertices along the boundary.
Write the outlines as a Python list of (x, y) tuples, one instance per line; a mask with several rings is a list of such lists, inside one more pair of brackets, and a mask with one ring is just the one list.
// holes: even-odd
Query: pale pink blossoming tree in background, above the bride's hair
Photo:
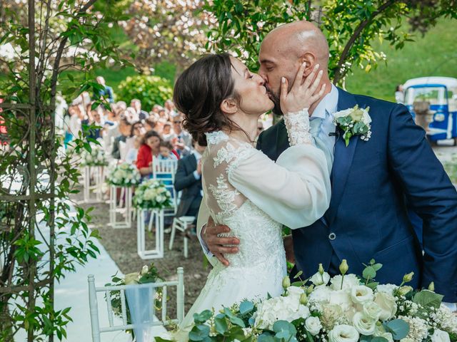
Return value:
[(130, 19), (121, 21), (131, 41), (137, 46), (134, 64), (149, 74), (154, 64), (174, 63), (179, 70), (189, 66), (202, 53), (206, 29), (216, 19), (202, 9), (202, 0), (134, 0)]

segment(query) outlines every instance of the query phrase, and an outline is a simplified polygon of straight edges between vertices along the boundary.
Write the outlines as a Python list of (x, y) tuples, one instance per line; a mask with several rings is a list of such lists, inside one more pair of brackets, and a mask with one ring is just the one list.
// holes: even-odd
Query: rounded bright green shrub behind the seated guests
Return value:
[(141, 100), (141, 108), (150, 111), (154, 105), (164, 105), (173, 96), (173, 87), (159, 76), (129, 76), (119, 84), (117, 100), (130, 103), (134, 98)]

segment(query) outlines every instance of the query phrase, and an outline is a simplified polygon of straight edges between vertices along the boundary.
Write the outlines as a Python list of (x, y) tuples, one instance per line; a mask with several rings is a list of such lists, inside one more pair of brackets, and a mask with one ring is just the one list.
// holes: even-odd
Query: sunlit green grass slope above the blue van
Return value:
[[(406, 42), (396, 51), (387, 43), (376, 44), (376, 51), (387, 55), (387, 65), (381, 63), (368, 73), (356, 68), (346, 78), (351, 93), (369, 95), (393, 101), (395, 87), (409, 78), (449, 76), (457, 78), (457, 20), (441, 20), (415, 42)], [(380, 48), (378, 48), (380, 47)]]

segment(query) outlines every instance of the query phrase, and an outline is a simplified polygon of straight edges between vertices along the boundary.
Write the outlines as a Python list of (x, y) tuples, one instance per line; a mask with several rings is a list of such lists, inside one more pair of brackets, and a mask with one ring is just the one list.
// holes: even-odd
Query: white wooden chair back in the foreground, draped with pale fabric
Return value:
[[(151, 326), (167, 326), (171, 323), (179, 324), (184, 319), (184, 270), (182, 267), (177, 269), (178, 279), (176, 281), (159, 281), (156, 283), (138, 284), (134, 286), (144, 287), (154, 291), (157, 288), (162, 289), (161, 296), (161, 320), (157, 319), (151, 322)], [(118, 286), (95, 286), (95, 278), (93, 274), (88, 276), (89, 282), (89, 308), (91, 315), (92, 341), (100, 342), (100, 334), (108, 331), (125, 331), (134, 329), (134, 323), (127, 321), (127, 303), (126, 289), (131, 285)], [(166, 303), (167, 303), (167, 286), (176, 286), (176, 318), (167, 319)], [(97, 293), (104, 293), (106, 298), (106, 306), (108, 309), (108, 326), (100, 326), (99, 322), (99, 304), (97, 301)], [(119, 296), (117, 295), (119, 294)], [(119, 298), (121, 301), (121, 321), (122, 323), (114, 322), (114, 311), (111, 305), (111, 300)], [(147, 305), (145, 303), (144, 305)], [(154, 302), (150, 303), (151, 311), (154, 309)]]

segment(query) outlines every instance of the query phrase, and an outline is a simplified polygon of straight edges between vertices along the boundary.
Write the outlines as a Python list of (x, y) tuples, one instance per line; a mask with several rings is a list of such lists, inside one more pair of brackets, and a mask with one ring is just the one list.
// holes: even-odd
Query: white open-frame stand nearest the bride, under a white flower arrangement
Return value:
[[(155, 229), (152, 229), (154, 222)], [(141, 259), (164, 257), (164, 209), (142, 209), (136, 212), (137, 251)], [(148, 229), (148, 233), (146, 233)], [(152, 235), (154, 249), (146, 249), (146, 234)]]

